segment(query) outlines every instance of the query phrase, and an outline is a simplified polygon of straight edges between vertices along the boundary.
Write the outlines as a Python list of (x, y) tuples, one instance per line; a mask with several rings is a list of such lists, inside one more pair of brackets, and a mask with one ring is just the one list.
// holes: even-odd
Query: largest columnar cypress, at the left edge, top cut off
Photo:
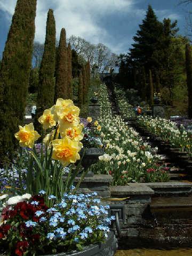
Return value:
[[(1, 159), (17, 145), (14, 133), (25, 115), (35, 35), (36, 0), (18, 0), (7, 36), (0, 76)], [(10, 156), (12, 156), (10, 154)]]

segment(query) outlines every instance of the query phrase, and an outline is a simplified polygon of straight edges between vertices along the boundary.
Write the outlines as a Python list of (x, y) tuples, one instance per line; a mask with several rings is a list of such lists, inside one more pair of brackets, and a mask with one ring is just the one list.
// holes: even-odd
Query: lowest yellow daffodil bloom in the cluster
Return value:
[(52, 145), (52, 158), (59, 160), (63, 166), (67, 166), (70, 163), (75, 163), (80, 159), (78, 152), (82, 148), (81, 142), (73, 141), (65, 137), (61, 140), (53, 140)]

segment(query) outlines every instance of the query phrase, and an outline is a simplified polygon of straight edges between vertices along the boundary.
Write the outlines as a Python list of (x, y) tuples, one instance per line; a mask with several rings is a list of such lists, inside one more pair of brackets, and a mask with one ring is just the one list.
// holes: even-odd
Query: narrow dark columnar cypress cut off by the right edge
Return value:
[(186, 44), (186, 72), (188, 89), (188, 118), (192, 118), (192, 54), (191, 46)]

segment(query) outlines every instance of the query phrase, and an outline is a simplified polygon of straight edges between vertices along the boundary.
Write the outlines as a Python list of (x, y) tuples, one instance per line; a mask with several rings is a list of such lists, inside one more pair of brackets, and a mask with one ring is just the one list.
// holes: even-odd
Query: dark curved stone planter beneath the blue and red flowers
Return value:
[(83, 251), (72, 251), (68, 253), (46, 254), (43, 256), (114, 256), (117, 247), (117, 239), (113, 231), (110, 231), (105, 243), (94, 244), (84, 247)]

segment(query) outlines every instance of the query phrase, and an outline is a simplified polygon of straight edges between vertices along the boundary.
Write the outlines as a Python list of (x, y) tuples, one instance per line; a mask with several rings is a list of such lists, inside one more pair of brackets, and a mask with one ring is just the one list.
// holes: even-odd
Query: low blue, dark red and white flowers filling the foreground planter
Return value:
[(108, 218), (109, 206), (94, 196), (65, 193), (58, 200), (50, 195), (53, 207), (45, 204), (43, 190), (9, 198), (2, 212), (0, 248), (8, 255), (43, 255), (103, 242), (114, 217)]

